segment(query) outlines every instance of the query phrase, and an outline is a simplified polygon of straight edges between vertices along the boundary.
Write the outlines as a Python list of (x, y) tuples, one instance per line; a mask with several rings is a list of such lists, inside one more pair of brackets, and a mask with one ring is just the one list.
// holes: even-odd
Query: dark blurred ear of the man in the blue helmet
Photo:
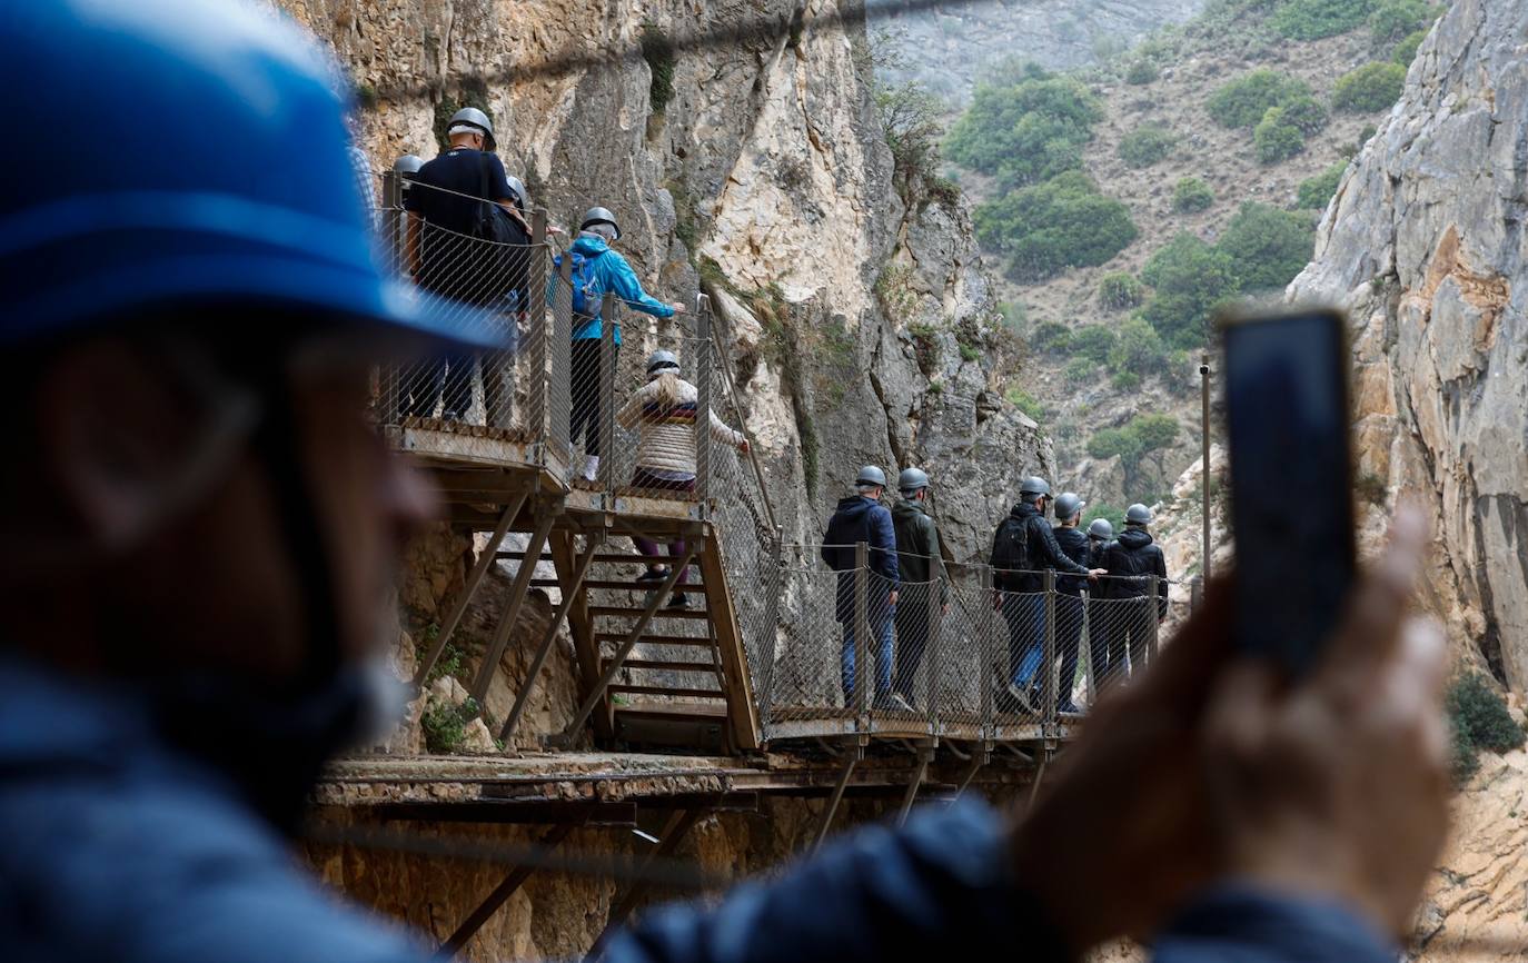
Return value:
[(40, 457), (70, 533), (105, 552), (131, 546), (182, 469), (196, 414), (121, 341), (67, 350), (37, 391)]

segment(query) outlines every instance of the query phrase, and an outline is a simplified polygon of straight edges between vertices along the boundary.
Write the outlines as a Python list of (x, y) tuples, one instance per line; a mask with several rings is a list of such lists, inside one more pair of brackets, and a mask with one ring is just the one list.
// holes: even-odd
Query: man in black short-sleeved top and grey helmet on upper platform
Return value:
[[(504, 165), (494, 153), (494, 122), (477, 107), (463, 107), (446, 124), (448, 148), (413, 176), (405, 264), (425, 290), (466, 304), (504, 310), (529, 304), (530, 228), (515, 208)], [(513, 312), (506, 335), (516, 329)], [(513, 338), (506, 338), (512, 347)], [(474, 356), (452, 353), (410, 368), (399, 385), (400, 414), (461, 420), (472, 405)], [(489, 387), (500, 387), (489, 373)], [(507, 423), (507, 391), (486, 399), (484, 423)]]

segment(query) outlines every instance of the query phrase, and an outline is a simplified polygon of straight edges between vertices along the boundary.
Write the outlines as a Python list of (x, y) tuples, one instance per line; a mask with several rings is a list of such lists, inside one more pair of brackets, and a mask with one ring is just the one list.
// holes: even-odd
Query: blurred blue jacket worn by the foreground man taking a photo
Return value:
[[(0, 653), (0, 946), (28, 963), (426, 963), (432, 948), (336, 900), (217, 772), (170, 749), (125, 692)], [(979, 802), (866, 825), (711, 905), (654, 908), (608, 963), (792, 963), (1065, 952)], [(894, 920), (895, 925), (888, 925)], [(1340, 905), (1221, 884), (1157, 939), (1157, 963), (1390, 963)]]

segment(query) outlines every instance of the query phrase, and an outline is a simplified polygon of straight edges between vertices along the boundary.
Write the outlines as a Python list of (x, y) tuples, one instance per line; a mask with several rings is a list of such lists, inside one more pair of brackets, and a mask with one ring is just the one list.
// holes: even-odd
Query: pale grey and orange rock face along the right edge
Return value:
[(1432, 607), (1528, 688), (1528, 8), (1461, 0), (1349, 167), (1296, 300), (1352, 316), (1358, 471), (1435, 509)]

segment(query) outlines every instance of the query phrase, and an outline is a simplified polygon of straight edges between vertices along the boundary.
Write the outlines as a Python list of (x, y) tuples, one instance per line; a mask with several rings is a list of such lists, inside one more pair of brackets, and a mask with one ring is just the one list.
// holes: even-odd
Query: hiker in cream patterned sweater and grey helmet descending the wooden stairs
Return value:
[[(631, 472), (633, 488), (648, 488), (656, 492), (692, 492), (695, 491), (695, 419), (701, 417), (695, 385), (678, 376), (678, 358), (674, 352), (652, 352), (648, 358), (648, 384), (633, 391), (626, 404), (616, 413), (616, 422), (628, 431), (637, 431), (637, 456)], [(715, 411), (704, 414), (709, 436), (738, 451), (749, 449), (749, 439), (741, 431), (733, 431), (717, 417)], [(659, 544), (640, 535), (631, 540), (637, 552), (657, 559), (662, 555)], [(668, 546), (669, 558), (685, 555), (685, 541), (672, 541)], [(637, 576), (639, 582), (662, 582), (668, 578), (668, 569), (654, 563), (646, 572)], [(688, 604), (685, 585), (689, 582), (689, 572), (680, 572), (671, 608), (683, 608)]]

